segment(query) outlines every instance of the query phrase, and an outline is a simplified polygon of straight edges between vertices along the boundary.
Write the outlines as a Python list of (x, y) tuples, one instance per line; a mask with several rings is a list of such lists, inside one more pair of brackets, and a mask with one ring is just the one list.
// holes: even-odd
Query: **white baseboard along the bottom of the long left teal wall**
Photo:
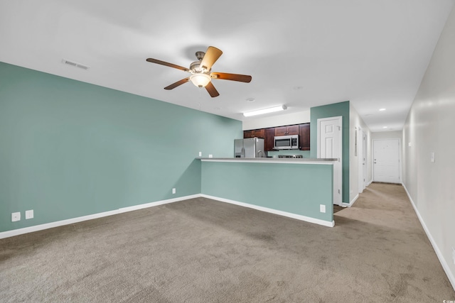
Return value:
[(123, 207), (121, 209), (114, 209), (112, 211), (104, 211), (101, 213), (90, 214), (87, 216), (78, 216), (77, 218), (71, 218), (71, 219), (66, 219), (66, 220), (61, 220), (61, 221), (50, 222), (50, 223), (46, 223), (46, 224), (40, 224), (40, 225), (35, 225), (35, 226), (13, 229), (12, 231), (3, 231), (0, 233), (0, 239), (9, 238), (12, 236), (18, 236), (18, 235), (22, 235), (24, 233), (33, 233), (33, 231), (42, 231), (43, 229), (73, 224), (73, 223), (77, 223), (77, 222), (98, 219), (98, 218), (102, 218), (104, 216), (122, 214), (127, 211), (135, 211), (138, 209), (145, 209), (147, 207), (158, 206), (158, 205), (162, 205), (162, 204), (169, 204), (169, 203), (173, 203), (173, 202), (178, 202), (178, 201), (182, 201), (182, 200), (186, 200), (186, 199), (193, 199), (193, 198), (198, 198), (198, 197), (200, 197), (200, 194), (193, 194), (191, 196), (178, 197), (178, 198), (161, 200), (161, 201), (151, 202), (151, 203), (146, 203), (146, 204), (128, 206), (128, 207)]

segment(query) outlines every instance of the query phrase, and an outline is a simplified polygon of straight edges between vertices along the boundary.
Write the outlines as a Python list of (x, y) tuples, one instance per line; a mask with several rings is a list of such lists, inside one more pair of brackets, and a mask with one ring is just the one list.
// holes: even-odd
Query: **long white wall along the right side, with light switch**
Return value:
[(454, 33), (452, 10), (403, 129), (403, 184), (455, 289)]

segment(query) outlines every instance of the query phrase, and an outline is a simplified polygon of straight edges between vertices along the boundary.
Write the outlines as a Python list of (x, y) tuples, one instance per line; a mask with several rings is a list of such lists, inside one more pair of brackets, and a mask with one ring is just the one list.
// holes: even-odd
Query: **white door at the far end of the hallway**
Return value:
[(373, 140), (373, 180), (400, 183), (400, 140)]

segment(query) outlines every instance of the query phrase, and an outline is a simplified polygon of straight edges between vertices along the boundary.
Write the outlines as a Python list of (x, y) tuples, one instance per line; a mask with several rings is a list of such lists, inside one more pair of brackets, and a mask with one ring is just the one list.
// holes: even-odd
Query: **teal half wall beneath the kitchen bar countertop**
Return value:
[(203, 194), (333, 221), (332, 165), (202, 162), (201, 179)]

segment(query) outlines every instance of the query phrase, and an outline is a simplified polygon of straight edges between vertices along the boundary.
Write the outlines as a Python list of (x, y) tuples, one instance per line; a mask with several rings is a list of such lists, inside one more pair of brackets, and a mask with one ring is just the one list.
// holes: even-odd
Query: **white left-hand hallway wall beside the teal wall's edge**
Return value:
[[(361, 149), (363, 148), (362, 138), (359, 134), (359, 128), (367, 136), (367, 150), (366, 150), (366, 165), (367, 176), (365, 179), (367, 183), (371, 180), (371, 132), (366, 126), (365, 122), (360, 118), (360, 115), (355, 110), (354, 106), (349, 105), (349, 201), (352, 203), (363, 188), (359, 187), (359, 169), (361, 165)], [(358, 131), (357, 136), (357, 155), (355, 155), (355, 131)]]

